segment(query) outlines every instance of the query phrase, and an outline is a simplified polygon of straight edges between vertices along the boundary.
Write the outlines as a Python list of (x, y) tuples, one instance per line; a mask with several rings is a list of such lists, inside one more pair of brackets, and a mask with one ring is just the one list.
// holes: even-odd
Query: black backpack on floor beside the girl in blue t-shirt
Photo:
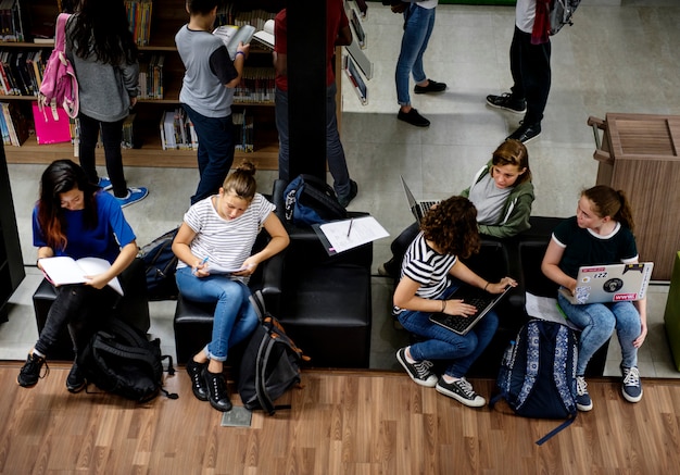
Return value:
[(163, 364), (175, 374), (173, 357), (161, 355), (161, 340), (149, 341), (146, 335), (119, 318), (109, 318), (77, 358), (78, 367), (88, 384), (137, 402), (148, 402), (163, 391)]

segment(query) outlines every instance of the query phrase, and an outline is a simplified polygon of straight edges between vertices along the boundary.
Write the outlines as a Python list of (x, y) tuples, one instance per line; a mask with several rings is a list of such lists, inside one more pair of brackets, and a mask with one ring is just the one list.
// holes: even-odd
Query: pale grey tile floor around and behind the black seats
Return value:
[[(604, 3), (604, 4), (603, 4)], [(588, 116), (607, 112), (680, 115), (680, 5), (677, 0), (583, 2), (572, 27), (553, 38), (553, 86), (542, 135), (528, 145), (537, 200), (536, 215), (569, 216), (579, 191), (595, 180), (596, 162)], [(652, 7), (664, 5), (664, 7)], [(487, 108), (484, 97), (508, 90), (508, 47), (514, 24), (512, 7), (439, 5), (426, 71), (449, 89), (438, 96), (412, 97), (413, 105), (432, 124), (426, 129), (396, 121), (393, 84), (401, 39), (401, 16), (379, 2), (369, 3), (364, 23), (366, 53), (374, 62), (367, 82), (369, 102), (361, 105), (350, 84), (343, 84), (342, 140), (358, 197), (350, 209), (369, 211), (396, 236), (411, 222), (399, 175), (416, 196), (440, 199), (458, 192), (519, 118)], [(37, 198), (42, 166), (10, 165), (10, 177), (24, 262), (33, 264), (30, 209)], [(102, 171), (103, 172), (103, 171)], [(126, 168), (130, 185), (150, 189), (142, 202), (125, 213), (143, 245), (176, 226), (198, 178), (196, 170)], [(259, 172), (268, 192), (275, 172)], [(374, 271), (389, 258), (390, 239), (374, 247)], [(12, 297), (10, 321), (0, 325), (0, 359), (23, 360), (37, 330), (30, 296), (40, 276), (27, 277)], [(377, 274), (377, 273), (376, 273)], [(405, 340), (389, 316), (391, 283), (373, 278), (374, 335), (372, 366), (398, 368), (394, 351)], [(650, 336), (640, 351), (643, 376), (679, 377), (663, 324), (666, 285), (648, 295)], [(174, 302), (152, 302), (152, 328), (165, 352), (174, 354)], [(618, 345), (610, 345), (606, 374), (618, 375)]]

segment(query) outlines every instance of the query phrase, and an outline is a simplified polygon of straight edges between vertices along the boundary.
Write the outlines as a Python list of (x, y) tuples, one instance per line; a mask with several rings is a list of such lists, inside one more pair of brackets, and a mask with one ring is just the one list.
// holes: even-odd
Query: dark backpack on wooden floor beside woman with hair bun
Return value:
[(290, 408), (275, 405), (274, 401), (291, 387), (300, 386), (300, 365), (308, 358), (286, 335), (279, 321), (266, 312), (260, 291), (250, 301), (260, 325), (243, 350), (237, 388), (245, 409), (262, 409), (273, 415), (277, 409)]

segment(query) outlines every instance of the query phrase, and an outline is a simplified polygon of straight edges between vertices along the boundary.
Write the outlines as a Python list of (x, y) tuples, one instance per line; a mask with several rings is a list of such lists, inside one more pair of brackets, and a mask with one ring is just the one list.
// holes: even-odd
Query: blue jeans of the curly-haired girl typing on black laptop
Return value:
[[(442, 299), (448, 298), (455, 289), (453, 285), (446, 289)], [(489, 312), (467, 335), (458, 335), (430, 322), (431, 312), (404, 310), (399, 314), (399, 322), (408, 332), (427, 338), (411, 346), (411, 357), (416, 361), (448, 360), (451, 361), (444, 373), (453, 377), (463, 377), (491, 342), (499, 327), (499, 316)]]

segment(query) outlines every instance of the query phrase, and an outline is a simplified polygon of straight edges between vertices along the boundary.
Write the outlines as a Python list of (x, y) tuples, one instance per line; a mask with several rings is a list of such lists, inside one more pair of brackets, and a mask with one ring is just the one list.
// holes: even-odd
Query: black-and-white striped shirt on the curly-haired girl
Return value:
[(438, 299), (449, 287), (449, 271), (456, 262), (452, 254), (440, 254), (425, 241), (423, 233), (413, 240), (404, 254), (402, 277), (420, 284), (416, 296), (424, 299)]

